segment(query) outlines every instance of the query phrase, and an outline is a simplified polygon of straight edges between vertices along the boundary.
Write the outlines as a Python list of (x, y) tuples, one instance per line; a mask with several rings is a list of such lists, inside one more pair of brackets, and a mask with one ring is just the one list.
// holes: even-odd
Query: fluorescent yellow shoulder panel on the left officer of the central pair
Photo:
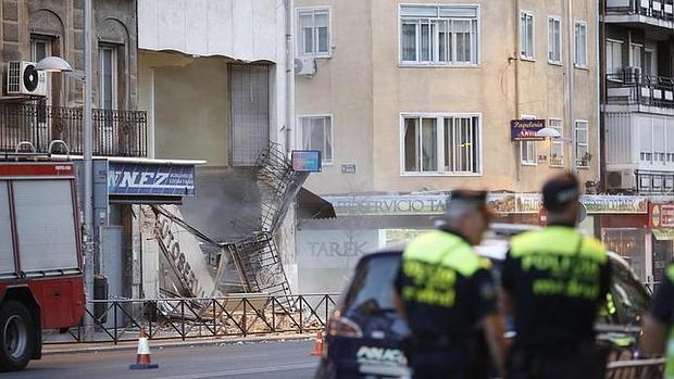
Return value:
[(440, 264), (464, 277), (490, 266), (489, 261), (482, 260), (464, 239), (442, 230), (429, 231), (414, 239), (408, 244), (402, 258)]

